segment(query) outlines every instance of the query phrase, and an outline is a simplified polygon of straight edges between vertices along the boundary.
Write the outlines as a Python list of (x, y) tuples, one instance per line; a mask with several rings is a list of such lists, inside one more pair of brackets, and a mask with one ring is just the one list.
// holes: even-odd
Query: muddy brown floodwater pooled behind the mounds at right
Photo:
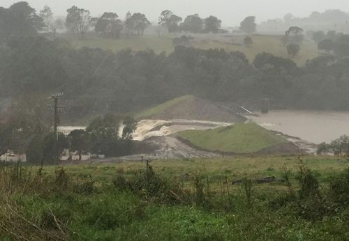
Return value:
[(248, 118), (269, 130), (313, 143), (330, 142), (343, 134), (349, 135), (349, 112), (270, 111)]

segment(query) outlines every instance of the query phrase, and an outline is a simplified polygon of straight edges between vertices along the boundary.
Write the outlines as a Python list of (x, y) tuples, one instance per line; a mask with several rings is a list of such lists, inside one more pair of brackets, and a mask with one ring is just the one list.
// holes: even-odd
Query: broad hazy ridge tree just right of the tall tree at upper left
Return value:
[(116, 13), (103, 13), (95, 25), (96, 33), (110, 38), (120, 38), (124, 24)]

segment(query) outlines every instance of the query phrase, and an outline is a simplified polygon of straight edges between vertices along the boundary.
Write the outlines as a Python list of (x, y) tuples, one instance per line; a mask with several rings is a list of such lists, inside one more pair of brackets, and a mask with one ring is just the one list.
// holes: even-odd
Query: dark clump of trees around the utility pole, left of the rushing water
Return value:
[[(124, 125), (119, 133), (120, 123)], [(50, 121), (40, 115), (40, 108), (20, 102), (6, 111), (6, 118), (0, 123), (0, 153), (13, 150), (26, 154), (32, 164), (55, 164), (65, 149), (77, 153), (79, 160), (83, 153), (117, 157), (133, 152), (133, 137), (137, 122), (131, 117), (114, 114), (98, 116), (89, 123), (86, 130), (73, 130), (66, 137), (50, 131)]]

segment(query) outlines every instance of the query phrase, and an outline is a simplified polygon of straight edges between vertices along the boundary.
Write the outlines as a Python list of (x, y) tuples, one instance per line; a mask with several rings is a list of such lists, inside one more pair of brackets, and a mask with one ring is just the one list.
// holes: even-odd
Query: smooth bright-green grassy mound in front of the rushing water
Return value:
[(289, 141), (255, 123), (238, 123), (213, 130), (188, 130), (179, 137), (193, 146), (225, 153), (255, 153)]

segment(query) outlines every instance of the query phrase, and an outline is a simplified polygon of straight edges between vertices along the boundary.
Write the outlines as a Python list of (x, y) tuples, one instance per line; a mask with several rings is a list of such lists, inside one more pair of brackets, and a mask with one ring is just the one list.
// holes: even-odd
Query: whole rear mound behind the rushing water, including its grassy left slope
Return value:
[(241, 123), (246, 120), (230, 109), (221, 107), (214, 102), (197, 98), (193, 95), (184, 95), (156, 107), (136, 114), (135, 118), (159, 120), (211, 120), (227, 123)]

